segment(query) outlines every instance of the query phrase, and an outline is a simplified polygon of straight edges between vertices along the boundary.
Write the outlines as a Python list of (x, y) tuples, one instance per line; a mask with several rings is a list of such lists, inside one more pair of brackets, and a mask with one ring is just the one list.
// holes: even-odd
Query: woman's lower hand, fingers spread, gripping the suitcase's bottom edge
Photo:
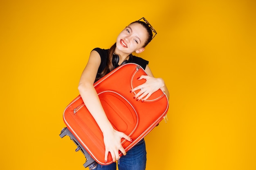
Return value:
[(108, 132), (103, 133), (104, 144), (105, 144), (105, 163), (108, 161), (108, 153), (110, 152), (113, 162), (118, 161), (119, 159), (119, 150), (123, 155), (126, 155), (126, 151), (121, 145), (121, 139), (125, 138), (126, 140), (132, 142), (132, 139), (126, 134), (112, 129)]

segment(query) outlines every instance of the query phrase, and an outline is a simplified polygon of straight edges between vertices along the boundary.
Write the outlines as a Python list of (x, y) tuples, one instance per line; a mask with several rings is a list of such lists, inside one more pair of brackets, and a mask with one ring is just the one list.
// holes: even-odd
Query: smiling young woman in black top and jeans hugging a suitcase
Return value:
[[(142, 21), (141, 21), (142, 20)], [(114, 68), (123, 63), (137, 63), (147, 72), (148, 76), (141, 76), (139, 79), (146, 79), (146, 82), (130, 92), (141, 89), (134, 100), (143, 102), (158, 89), (162, 89), (169, 98), (168, 89), (162, 78), (155, 78), (148, 67), (148, 61), (132, 55), (132, 52), (141, 53), (153, 39), (156, 31), (145, 18), (132, 22), (118, 35), (116, 43), (110, 49), (94, 48), (88, 60), (79, 82), (79, 92), (86, 107), (99, 125), (105, 144), (105, 161), (108, 153), (111, 154), (113, 163), (108, 166), (98, 165), (95, 170), (116, 170), (116, 161), (119, 160), (119, 150), (123, 153), (119, 160), (119, 170), (145, 170), (146, 168), (146, 146), (144, 139), (136, 144), (127, 153), (121, 145), (121, 138), (132, 142), (132, 139), (119, 131), (116, 131), (110, 124), (104, 112), (94, 82), (108, 74)]]

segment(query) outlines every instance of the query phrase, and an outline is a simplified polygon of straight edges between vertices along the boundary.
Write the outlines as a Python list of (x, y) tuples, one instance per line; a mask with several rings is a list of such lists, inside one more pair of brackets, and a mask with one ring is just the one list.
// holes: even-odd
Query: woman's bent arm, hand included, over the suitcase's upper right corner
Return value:
[(164, 83), (164, 80), (162, 78), (155, 78), (148, 65), (146, 66), (145, 71), (148, 76), (140, 76), (139, 80), (144, 78), (146, 79), (146, 82), (132, 89), (132, 92), (141, 89), (137, 95), (135, 95), (135, 98), (142, 101), (147, 100), (151, 94), (156, 92), (158, 89), (161, 89), (164, 91), (169, 100), (169, 91)]

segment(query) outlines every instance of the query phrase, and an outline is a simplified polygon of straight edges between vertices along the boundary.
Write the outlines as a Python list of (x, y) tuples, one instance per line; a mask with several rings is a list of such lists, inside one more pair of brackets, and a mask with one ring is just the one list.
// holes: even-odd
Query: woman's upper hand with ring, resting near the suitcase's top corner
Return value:
[(155, 78), (152, 76), (142, 75), (137, 79), (146, 79), (145, 83), (138, 85), (130, 91), (132, 93), (140, 89), (140, 91), (134, 96), (134, 98), (137, 101), (141, 100), (143, 102), (144, 100), (147, 100), (154, 92), (161, 89), (165, 85), (164, 80), (162, 78)]

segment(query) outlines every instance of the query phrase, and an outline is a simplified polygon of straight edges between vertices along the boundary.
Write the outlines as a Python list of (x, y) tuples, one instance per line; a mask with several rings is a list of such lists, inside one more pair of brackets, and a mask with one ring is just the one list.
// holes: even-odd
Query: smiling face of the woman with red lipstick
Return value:
[(139, 23), (130, 24), (117, 36), (116, 52), (125, 54), (142, 52), (147, 38), (146, 28)]

